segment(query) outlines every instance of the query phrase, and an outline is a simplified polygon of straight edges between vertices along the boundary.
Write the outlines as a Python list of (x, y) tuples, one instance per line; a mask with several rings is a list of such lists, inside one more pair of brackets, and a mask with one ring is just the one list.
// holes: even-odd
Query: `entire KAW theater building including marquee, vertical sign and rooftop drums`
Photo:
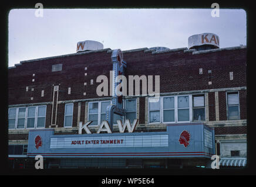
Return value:
[(246, 54), (203, 33), (180, 49), (86, 40), (21, 61), (8, 70), (9, 166), (35, 168), (42, 155), (44, 168), (211, 168), (217, 154), (220, 169), (245, 167)]

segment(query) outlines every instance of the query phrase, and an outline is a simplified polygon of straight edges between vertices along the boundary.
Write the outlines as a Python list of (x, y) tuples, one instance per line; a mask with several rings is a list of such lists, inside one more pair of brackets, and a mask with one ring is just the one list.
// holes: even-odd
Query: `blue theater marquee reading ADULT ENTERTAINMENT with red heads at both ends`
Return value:
[[(44, 158), (211, 158), (215, 154), (214, 130), (205, 124), (166, 126), (166, 131), (143, 133), (121, 133), (124, 124), (120, 133), (60, 135), (55, 134), (55, 129), (29, 130), (28, 157), (39, 154)], [(130, 127), (133, 129), (133, 125)], [(43, 140), (39, 148), (35, 147), (35, 139)]]

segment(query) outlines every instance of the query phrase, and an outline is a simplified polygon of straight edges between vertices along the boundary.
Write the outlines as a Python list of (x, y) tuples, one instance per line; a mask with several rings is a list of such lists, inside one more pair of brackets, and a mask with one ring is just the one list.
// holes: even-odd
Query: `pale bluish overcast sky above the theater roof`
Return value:
[(246, 45), (243, 9), (12, 9), (8, 16), (8, 67), (23, 60), (76, 53), (78, 41), (103, 48), (188, 47), (193, 34), (214, 33), (220, 48)]

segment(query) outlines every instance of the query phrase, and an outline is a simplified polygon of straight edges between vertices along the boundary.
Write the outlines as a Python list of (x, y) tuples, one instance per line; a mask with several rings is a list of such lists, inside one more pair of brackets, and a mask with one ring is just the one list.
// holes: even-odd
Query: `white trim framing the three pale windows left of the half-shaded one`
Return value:
[[(190, 118), (190, 120), (188, 120), (188, 121), (178, 122), (178, 102), (177, 102), (178, 96), (188, 96), (189, 108), (180, 108), (180, 109), (189, 109), (189, 118)], [(174, 97), (174, 122), (163, 122), (163, 98), (170, 98), (170, 97)], [(193, 116), (192, 116), (192, 109), (193, 109), (192, 108), (192, 95), (186, 94), (186, 95), (160, 96), (160, 122), (151, 122), (151, 123), (150, 123), (150, 98), (153, 98), (153, 97), (149, 97), (148, 98), (149, 108), (148, 108), (147, 114), (149, 116), (149, 119), (148, 119), (149, 124), (188, 123), (188, 122), (192, 122), (193, 121)]]

